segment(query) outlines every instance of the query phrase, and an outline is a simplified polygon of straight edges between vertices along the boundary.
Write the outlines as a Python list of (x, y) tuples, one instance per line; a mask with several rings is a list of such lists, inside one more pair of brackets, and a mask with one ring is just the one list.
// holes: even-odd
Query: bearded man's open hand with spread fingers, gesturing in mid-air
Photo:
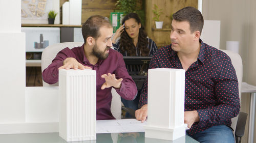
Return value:
[(105, 83), (102, 84), (101, 90), (104, 90), (105, 88), (110, 88), (114, 87), (116, 89), (119, 89), (121, 87), (121, 81), (123, 81), (122, 78), (116, 79), (115, 74), (110, 74), (108, 75), (103, 74), (101, 75), (102, 78), (105, 78)]

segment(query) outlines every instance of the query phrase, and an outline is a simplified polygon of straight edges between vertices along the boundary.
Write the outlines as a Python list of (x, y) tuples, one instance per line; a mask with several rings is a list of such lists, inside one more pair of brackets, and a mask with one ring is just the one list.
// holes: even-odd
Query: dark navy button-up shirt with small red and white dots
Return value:
[[(190, 135), (211, 126), (231, 125), (231, 118), (240, 111), (238, 79), (229, 56), (200, 42), (198, 59), (185, 72), (185, 111), (197, 110), (200, 119), (187, 130)], [(158, 49), (150, 62), (153, 68), (183, 69), (172, 44)], [(144, 104), (147, 80), (140, 95), (140, 106)]]

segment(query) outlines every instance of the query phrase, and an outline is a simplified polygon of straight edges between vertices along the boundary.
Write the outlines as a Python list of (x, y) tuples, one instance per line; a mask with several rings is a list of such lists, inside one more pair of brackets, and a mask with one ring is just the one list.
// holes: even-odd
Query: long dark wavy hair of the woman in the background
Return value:
[[(138, 24), (141, 23), (140, 18), (136, 13), (129, 13), (124, 16), (124, 18), (122, 20), (122, 24), (130, 18), (134, 18)], [(138, 49), (140, 50), (140, 55), (142, 55), (142, 56), (147, 56), (148, 53), (150, 52), (150, 50), (147, 48), (148, 42), (147, 42), (146, 37), (147, 37), (147, 35), (144, 31), (144, 27), (141, 24), (141, 27), (139, 28), (139, 36), (138, 36), (138, 44), (137, 45), (138, 45)], [(121, 34), (119, 42), (120, 42), (119, 47), (120, 47), (121, 53), (125, 53), (125, 51), (126, 51), (127, 55), (129, 55), (129, 56), (136, 55), (136, 49), (133, 48), (134, 47), (133, 39), (126, 33), (125, 30)]]

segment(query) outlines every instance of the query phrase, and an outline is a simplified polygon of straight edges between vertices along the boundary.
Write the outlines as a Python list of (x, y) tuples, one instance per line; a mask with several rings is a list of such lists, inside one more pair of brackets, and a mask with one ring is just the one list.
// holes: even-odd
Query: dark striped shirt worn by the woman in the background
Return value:
[[(156, 43), (150, 38), (147, 38), (147, 42), (148, 42), (147, 48), (150, 50), (150, 52), (148, 53), (148, 56), (153, 56), (154, 53), (157, 51)], [(115, 50), (120, 52), (121, 50), (120, 50), (119, 45), (120, 45), (120, 42), (117, 41), (116, 44), (113, 44), (113, 47)], [(134, 46), (134, 48), (137, 49), (135, 46)], [(122, 53), (122, 54), (123, 54), (123, 56), (130, 56), (130, 55), (127, 55), (126, 51), (125, 51), (125, 53)], [(139, 49), (136, 50), (136, 55), (140, 55)]]

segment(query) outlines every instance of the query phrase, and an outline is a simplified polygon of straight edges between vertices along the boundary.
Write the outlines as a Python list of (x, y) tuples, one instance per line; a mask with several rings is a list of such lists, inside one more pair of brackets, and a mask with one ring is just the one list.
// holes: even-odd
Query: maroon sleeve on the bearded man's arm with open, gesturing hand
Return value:
[(117, 59), (118, 67), (114, 71), (114, 74), (116, 75), (116, 78), (122, 78), (121, 87), (120, 89), (115, 89), (116, 92), (126, 100), (134, 100), (137, 96), (137, 87), (132, 79), (132, 77), (127, 72), (127, 69), (125, 68), (125, 63), (123, 61), (123, 58), (120, 54)]

